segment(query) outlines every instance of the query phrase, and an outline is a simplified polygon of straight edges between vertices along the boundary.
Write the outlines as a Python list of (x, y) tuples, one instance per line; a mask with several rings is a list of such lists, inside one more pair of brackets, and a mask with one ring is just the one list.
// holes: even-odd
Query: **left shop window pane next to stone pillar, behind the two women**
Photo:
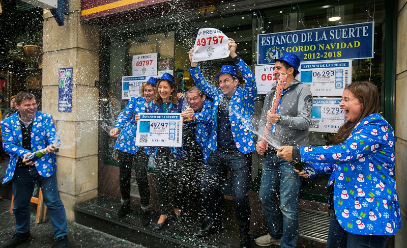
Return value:
[[(173, 71), (174, 32), (164, 33), (125, 33), (120, 36), (108, 38), (109, 62), (107, 103), (104, 108), (103, 125), (106, 132), (103, 135), (105, 147), (104, 162), (117, 166), (117, 152), (113, 148), (115, 139), (108, 137), (108, 130), (113, 127), (114, 121), (126, 106), (127, 100), (122, 99), (122, 77), (132, 75), (133, 56), (157, 53), (158, 73)], [(107, 63), (107, 62), (106, 62)]]

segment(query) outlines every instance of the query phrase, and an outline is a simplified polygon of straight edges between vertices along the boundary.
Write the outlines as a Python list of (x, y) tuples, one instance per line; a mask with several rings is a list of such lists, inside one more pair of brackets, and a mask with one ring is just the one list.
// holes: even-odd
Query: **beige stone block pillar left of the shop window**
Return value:
[[(44, 11), (43, 111), (52, 114), (63, 147), (57, 155), (57, 180), (67, 217), (74, 205), (98, 195), (99, 27), (80, 22), (80, 1), (59, 26)], [(58, 111), (58, 70), (73, 68), (72, 113)]]

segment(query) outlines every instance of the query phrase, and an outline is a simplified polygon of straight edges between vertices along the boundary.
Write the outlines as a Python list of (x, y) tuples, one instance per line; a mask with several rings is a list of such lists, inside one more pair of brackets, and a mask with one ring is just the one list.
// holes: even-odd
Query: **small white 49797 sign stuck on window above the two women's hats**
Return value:
[(133, 76), (157, 75), (157, 52), (133, 56)]

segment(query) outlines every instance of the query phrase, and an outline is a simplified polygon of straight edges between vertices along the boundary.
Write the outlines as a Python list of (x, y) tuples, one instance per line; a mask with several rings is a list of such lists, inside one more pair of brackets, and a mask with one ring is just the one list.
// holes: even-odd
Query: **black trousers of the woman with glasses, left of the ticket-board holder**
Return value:
[(147, 164), (149, 155), (141, 147), (136, 154), (131, 154), (118, 150), (120, 163), (120, 192), (123, 200), (130, 200), (130, 178), (131, 165), (135, 158), (135, 171), (138, 191), (140, 192), (140, 202), (142, 207), (150, 204), (150, 187), (147, 179)]

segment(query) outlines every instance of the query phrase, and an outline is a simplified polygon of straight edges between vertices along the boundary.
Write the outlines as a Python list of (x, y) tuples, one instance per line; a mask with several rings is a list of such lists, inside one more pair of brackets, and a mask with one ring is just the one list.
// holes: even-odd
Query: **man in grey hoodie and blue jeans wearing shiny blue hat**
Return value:
[[(284, 90), (280, 100), (278, 114), (271, 114), (270, 107), (276, 87), (266, 94), (260, 123), (276, 124), (271, 139), (279, 145), (308, 146), (308, 129), (312, 113), (312, 95), (309, 87), (295, 79), (300, 66), (300, 59), (286, 52), (275, 61), (274, 75), (287, 73)], [(261, 127), (264, 130), (264, 126)], [(276, 156), (277, 150), (272, 146), (261, 147), (256, 144), (259, 154), (266, 159), (261, 170), (261, 184), (258, 192), (269, 233), (256, 238), (260, 246), (279, 245), (295, 247), (298, 239), (298, 201), (302, 177), (294, 172), (289, 162)], [(276, 190), (279, 188), (280, 207), (277, 205)], [(280, 210), (283, 222), (280, 221)]]

